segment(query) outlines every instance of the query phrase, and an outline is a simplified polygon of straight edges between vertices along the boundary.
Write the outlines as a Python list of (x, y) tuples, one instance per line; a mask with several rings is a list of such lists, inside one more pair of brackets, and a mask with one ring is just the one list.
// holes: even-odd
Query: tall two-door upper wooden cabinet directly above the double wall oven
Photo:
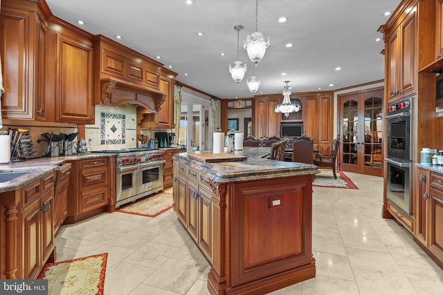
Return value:
[(388, 99), (390, 102), (415, 93), (417, 77), (417, 8), (414, 7), (395, 30), (390, 32), (386, 44)]

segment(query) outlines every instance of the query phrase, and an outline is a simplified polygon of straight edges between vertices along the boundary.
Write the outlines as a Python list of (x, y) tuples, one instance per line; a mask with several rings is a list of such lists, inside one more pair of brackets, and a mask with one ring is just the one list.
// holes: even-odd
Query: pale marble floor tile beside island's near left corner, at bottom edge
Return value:
[(143, 283), (186, 294), (205, 269), (206, 264), (171, 258), (148, 276)]

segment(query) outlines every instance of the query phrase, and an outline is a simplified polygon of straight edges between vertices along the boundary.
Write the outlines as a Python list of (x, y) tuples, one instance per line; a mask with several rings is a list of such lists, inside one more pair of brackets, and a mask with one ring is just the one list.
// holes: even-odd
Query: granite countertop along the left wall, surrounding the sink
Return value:
[(60, 157), (42, 157), (37, 159), (0, 164), (0, 174), (7, 172), (29, 171), (29, 173), (21, 175), (18, 178), (14, 178), (13, 180), (0, 182), (0, 193), (3, 193), (5, 191), (15, 191), (16, 189), (19, 189), (20, 187), (33, 182), (37, 178), (40, 178), (44, 173), (59, 169), (60, 165), (66, 161), (111, 157), (114, 155), (115, 154), (110, 153), (85, 153), (81, 155), (74, 154)]

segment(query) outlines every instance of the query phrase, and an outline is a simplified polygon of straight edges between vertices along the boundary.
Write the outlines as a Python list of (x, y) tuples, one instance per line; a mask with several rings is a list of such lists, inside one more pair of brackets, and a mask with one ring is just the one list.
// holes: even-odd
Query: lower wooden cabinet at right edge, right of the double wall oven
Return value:
[(443, 174), (418, 169), (415, 240), (443, 268)]

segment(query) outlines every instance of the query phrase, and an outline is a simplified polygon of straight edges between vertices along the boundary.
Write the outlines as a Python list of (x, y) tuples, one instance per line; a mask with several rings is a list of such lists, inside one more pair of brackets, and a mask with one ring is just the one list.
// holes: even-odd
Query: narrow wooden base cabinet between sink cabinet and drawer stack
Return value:
[(54, 232), (57, 232), (68, 216), (68, 185), (71, 166), (71, 163), (65, 163), (57, 171), (54, 194)]

